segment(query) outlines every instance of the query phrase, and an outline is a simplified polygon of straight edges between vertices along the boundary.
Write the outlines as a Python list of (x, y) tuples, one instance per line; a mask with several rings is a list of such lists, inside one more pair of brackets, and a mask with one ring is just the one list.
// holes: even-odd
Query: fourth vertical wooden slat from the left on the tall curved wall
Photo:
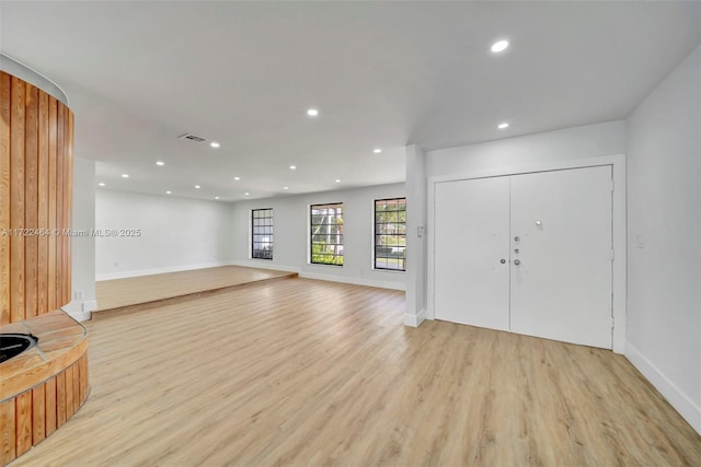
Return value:
[[(48, 94), (39, 93), (39, 153), (38, 153), (38, 224), (39, 229), (48, 229)], [(48, 242), (47, 235), (38, 242), (38, 277), (37, 308), (39, 314), (47, 313), (48, 307)]]

